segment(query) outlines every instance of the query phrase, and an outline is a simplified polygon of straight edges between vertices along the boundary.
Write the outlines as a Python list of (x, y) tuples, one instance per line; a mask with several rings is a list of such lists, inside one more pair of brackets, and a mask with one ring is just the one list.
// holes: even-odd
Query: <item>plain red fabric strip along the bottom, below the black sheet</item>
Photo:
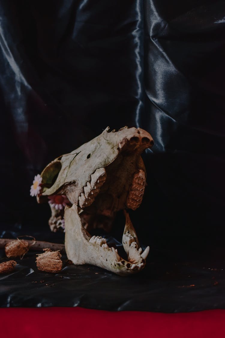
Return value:
[(2, 308), (0, 336), (219, 338), (225, 336), (225, 310), (166, 314), (82, 308)]

